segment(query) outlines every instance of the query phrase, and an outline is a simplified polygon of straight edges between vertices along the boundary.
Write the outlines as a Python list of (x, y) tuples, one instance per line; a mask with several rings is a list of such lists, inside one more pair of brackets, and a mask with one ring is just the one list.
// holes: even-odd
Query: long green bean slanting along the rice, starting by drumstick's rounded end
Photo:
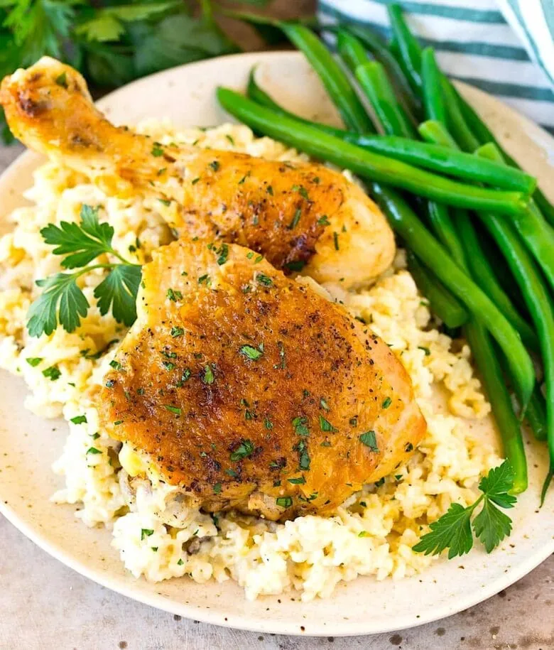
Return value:
[(425, 229), (400, 195), (379, 184), (374, 184), (374, 193), (393, 229), (498, 342), (526, 406), (535, 385), (535, 370), (517, 332), (487, 294), (452, 261), (450, 254)]

